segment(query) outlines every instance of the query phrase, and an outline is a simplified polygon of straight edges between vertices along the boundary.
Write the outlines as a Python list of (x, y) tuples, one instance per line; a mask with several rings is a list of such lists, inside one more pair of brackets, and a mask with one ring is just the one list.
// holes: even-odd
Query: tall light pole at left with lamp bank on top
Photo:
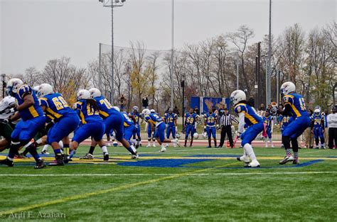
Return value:
[(98, 0), (103, 6), (111, 8), (111, 93), (110, 101), (114, 104), (114, 7), (124, 6), (127, 0)]

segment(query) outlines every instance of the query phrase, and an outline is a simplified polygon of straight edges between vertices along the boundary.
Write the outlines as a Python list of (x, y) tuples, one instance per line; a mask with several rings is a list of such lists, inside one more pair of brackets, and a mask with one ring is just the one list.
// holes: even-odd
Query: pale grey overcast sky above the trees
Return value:
[[(175, 47), (198, 43), (246, 24), (252, 42), (268, 33), (268, 0), (175, 0)], [(272, 33), (299, 23), (309, 32), (336, 21), (335, 0), (274, 0)], [(98, 0), (0, 0), (0, 72), (42, 70), (63, 55), (85, 67), (98, 43), (111, 43), (111, 11)], [(127, 0), (114, 9), (114, 45), (141, 41), (171, 48), (171, 0)]]

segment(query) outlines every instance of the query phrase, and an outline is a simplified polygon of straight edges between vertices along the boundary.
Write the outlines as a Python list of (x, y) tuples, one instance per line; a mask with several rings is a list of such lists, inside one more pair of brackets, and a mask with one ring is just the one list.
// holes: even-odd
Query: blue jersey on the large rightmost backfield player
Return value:
[(306, 111), (306, 104), (304, 102), (303, 96), (299, 94), (289, 94), (283, 97), (284, 105), (289, 105), (291, 107), (290, 111), (292, 116), (309, 116)]

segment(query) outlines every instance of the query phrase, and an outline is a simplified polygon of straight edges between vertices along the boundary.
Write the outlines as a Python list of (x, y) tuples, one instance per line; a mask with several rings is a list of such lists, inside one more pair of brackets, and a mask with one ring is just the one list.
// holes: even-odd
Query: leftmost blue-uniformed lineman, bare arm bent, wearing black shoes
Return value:
[[(21, 79), (10, 79), (7, 83), (7, 90), (12, 96), (16, 97), (18, 106), (15, 110), (18, 111), (14, 114), (12, 119), (21, 117), (21, 121), (16, 125), (16, 128), (11, 133), (11, 147), (9, 154), (5, 160), (1, 160), (0, 164), (9, 167), (14, 166), (14, 155), (18, 149), (31, 141), (31, 138), (38, 133), (40, 128), (46, 123), (46, 118), (43, 111), (39, 106), (38, 97), (35, 92), (26, 84), (23, 84)], [(46, 164), (41, 160), (36, 147), (30, 148), (29, 152), (36, 161), (35, 169), (46, 167)]]

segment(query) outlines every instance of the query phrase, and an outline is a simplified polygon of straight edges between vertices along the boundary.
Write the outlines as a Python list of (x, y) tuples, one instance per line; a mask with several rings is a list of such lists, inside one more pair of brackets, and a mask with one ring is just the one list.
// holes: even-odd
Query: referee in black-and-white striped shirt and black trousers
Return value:
[(226, 133), (228, 136), (228, 140), (230, 141), (230, 148), (233, 148), (233, 138), (232, 138), (232, 121), (234, 121), (235, 123), (239, 123), (239, 121), (237, 121), (237, 119), (230, 115), (230, 113), (228, 113), (228, 109), (225, 108), (224, 109), (224, 114), (223, 116), (220, 117), (220, 127), (221, 127), (221, 138), (220, 138), (220, 145), (218, 146), (218, 148), (222, 148), (223, 147), (223, 143), (225, 142), (225, 137), (226, 137)]

